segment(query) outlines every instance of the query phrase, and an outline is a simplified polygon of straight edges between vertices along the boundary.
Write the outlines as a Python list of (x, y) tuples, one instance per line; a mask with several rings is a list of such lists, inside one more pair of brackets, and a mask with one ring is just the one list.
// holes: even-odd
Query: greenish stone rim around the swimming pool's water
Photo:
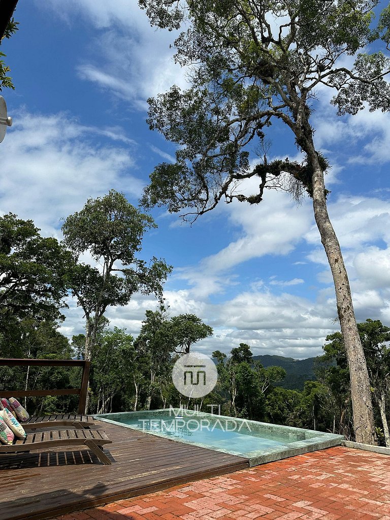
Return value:
[(187, 439), (175, 439), (172, 437), (167, 437), (164, 433), (161, 432), (154, 432), (154, 431), (142, 431), (142, 433), (147, 433), (149, 435), (155, 435), (157, 437), (163, 437), (163, 438), (169, 438), (170, 440), (181, 442), (183, 444), (191, 444), (194, 446), (200, 446), (201, 448), (210, 449), (213, 451), (219, 451), (223, 453), (228, 453), (230, 455), (236, 455), (238, 457), (247, 458), (249, 460), (250, 467), (257, 466), (259, 464), (266, 464), (268, 462), (274, 462), (281, 459), (287, 459), (289, 457), (294, 457), (296, 455), (302, 455), (304, 453), (308, 453), (310, 451), (317, 451), (321, 449), (331, 448), (334, 446), (341, 446), (342, 441), (344, 440), (343, 435), (337, 435), (332, 433), (326, 433), (326, 432), (318, 432), (315, 430), (305, 430), (304, 428), (294, 428), (292, 426), (284, 426), (284, 425), (278, 425), (278, 424), (271, 424), (271, 423), (262, 423), (259, 421), (251, 421), (247, 419), (239, 419), (235, 417), (229, 417), (227, 415), (217, 415), (207, 412), (198, 412), (195, 410), (183, 410), (179, 408), (165, 408), (165, 409), (158, 409), (158, 410), (141, 410), (136, 412), (116, 412), (116, 413), (105, 413), (105, 414), (95, 414), (94, 418), (98, 419), (99, 421), (108, 422), (111, 424), (115, 424), (118, 426), (122, 426), (124, 428), (129, 428), (131, 430), (140, 431), (139, 428), (130, 425), (130, 424), (124, 424), (119, 421), (115, 421), (113, 419), (108, 419), (107, 415), (115, 416), (118, 419), (122, 415), (128, 414), (134, 414), (138, 415), (140, 417), (150, 417), (151, 413), (157, 413), (157, 414), (166, 414), (169, 411), (173, 412), (173, 419), (175, 413), (181, 413), (186, 412), (188, 417), (204, 417), (207, 418), (213, 418), (225, 421), (240, 421), (242, 423), (246, 423), (249, 426), (252, 426), (254, 429), (264, 431), (265, 433), (271, 433), (275, 432), (279, 436), (283, 435), (286, 438), (294, 435), (303, 435), (305, 438), (301, 440), (297, 440), (295, 442), (286, 444), (286, 445), (278, 445), (273, 446), (272, 448), (265, 448), (263, 450), (256, 450), (256, 451), (249, 451), (249, 452), (237, 452), (234, 450), (227, 450), (224, 448), (220, 448), (217, 446), (210, 446), (206, 444), (202, 444), (199, 442), (194, 442)]

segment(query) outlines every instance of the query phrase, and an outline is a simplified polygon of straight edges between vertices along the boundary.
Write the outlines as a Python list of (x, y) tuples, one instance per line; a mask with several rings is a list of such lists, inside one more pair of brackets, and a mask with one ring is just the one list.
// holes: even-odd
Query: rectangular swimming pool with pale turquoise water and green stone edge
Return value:
[(250, 466), (340, 446), (344, 439), (342, 435), (178, 408), (105, 413), (94, 417), (132, 430), (248, 458)]

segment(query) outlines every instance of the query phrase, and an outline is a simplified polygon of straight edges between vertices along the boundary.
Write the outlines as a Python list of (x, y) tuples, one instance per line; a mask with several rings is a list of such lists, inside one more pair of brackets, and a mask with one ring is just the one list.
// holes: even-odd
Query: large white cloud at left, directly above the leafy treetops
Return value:
[(111, 188), (138, 197), (142, 182), (128, 173), (134, 165), (131, 140), (120, 148), (96, 141), (98, 134), (118, 136), (115, 129), (102, 133), (67, 114), (21, 112), (3, 150), (0, 212), (32, 218), (44, 234), (57, 235), (60, 219), (80, 210), (87, 198)]

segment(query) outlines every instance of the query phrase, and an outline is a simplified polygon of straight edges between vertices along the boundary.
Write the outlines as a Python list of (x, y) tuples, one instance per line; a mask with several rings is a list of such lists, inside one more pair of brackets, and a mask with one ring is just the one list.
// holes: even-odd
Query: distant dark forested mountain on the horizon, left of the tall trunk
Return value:
[(277, 383), (278, 386), (288, 390), (303, 390), (305, 381), (315, 380), (314, 361), (317, 358), (293, 359), (283, 356), (253, 356), (254, 361), (258, 360), (264, 368), (282, 367), (287, 372), (285, 379)]

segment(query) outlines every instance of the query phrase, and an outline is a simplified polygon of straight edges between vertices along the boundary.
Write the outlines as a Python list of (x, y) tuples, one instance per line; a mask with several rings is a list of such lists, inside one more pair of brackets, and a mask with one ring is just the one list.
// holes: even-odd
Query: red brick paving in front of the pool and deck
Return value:
[(330, 448), (53, 520), (390, 520), (390, 457)]

